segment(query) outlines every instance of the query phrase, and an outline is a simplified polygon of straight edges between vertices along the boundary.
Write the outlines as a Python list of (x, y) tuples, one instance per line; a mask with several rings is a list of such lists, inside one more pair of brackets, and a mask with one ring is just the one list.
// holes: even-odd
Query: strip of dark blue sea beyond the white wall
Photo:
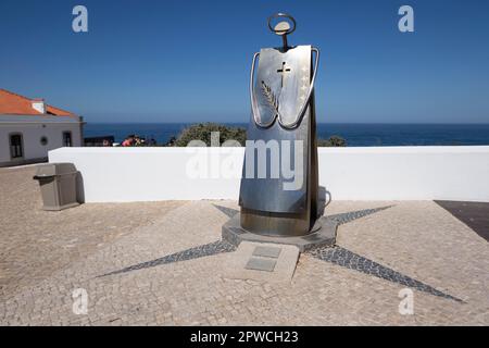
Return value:
[[(87, 123), (85, 137), (114, 136), (122, 142), (128, 135), (153, 138), (159, 145), (188, 127), (188, 123)], [(246, 123), (228, 126), (247, 127)], [(321, 123), (317, 137), (337, 135), (348, 147), (371, 146), (462, 146), (489, 145), (489, 124), (360, 124)]]

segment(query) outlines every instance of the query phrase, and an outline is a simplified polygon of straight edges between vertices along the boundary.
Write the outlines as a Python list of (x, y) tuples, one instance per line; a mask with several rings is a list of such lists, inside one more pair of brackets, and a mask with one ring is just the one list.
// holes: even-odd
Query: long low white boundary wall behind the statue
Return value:
[[(49, 161), (75, 163), (87, 202), (236, 200), (243, 151), (61, 148)], [(489, 146), (319, 148), (318, 154), (319, 184), (334, 200), (489, 201)], [(197, 164), (211, 177), (192, 177)], [(227, 178), (218, 177), (220, 167)]]

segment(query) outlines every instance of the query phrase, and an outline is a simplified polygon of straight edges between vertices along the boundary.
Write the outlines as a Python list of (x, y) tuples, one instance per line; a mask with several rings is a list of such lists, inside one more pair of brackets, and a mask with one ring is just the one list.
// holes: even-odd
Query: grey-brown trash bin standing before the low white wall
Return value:
[(33, 177), (39, 181), (43, 210), (63, 210), (78, 206), (76, 177), (78, 172), (73, 163), (49, 163), (37, 167)]

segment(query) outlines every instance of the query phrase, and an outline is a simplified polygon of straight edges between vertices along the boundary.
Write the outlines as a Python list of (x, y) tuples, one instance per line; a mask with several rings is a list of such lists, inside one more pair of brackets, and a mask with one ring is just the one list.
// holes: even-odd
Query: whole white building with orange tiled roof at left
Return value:
[(83, 117), (0, 89), (0, 166), (47, 160), (48, 151), (83, 144)]

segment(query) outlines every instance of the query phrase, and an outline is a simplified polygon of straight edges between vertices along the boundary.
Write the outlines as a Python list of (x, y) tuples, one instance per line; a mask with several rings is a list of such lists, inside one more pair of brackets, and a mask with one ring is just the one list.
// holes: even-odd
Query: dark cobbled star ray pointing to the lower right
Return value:
[(341, 247), (333, 247), (333, 248), (317, 248), (308, 253), (313, 257), (331, 262), (334, 264), (359, 271), (368, 275), (376, 276), (378, 278), (383, 278), (392, 283), (404, 285), (409, 288), (417, 289), (419, 291), (424, 291), (430, 295), (435, 295), (438, 297), (451, 299), (457, 302), (462, 302), (461, 299), (453, 297), (451, 295), (444, 294), (436, 288), (426, 285), (419, 281), (413, 279), (408, 275), (399, 273), (392, 269), (389, 269), (385, 265), (381, 265), (375, 261), (372, 261), (367, 258), (359, 256), (350, 250), (347, 250)]

